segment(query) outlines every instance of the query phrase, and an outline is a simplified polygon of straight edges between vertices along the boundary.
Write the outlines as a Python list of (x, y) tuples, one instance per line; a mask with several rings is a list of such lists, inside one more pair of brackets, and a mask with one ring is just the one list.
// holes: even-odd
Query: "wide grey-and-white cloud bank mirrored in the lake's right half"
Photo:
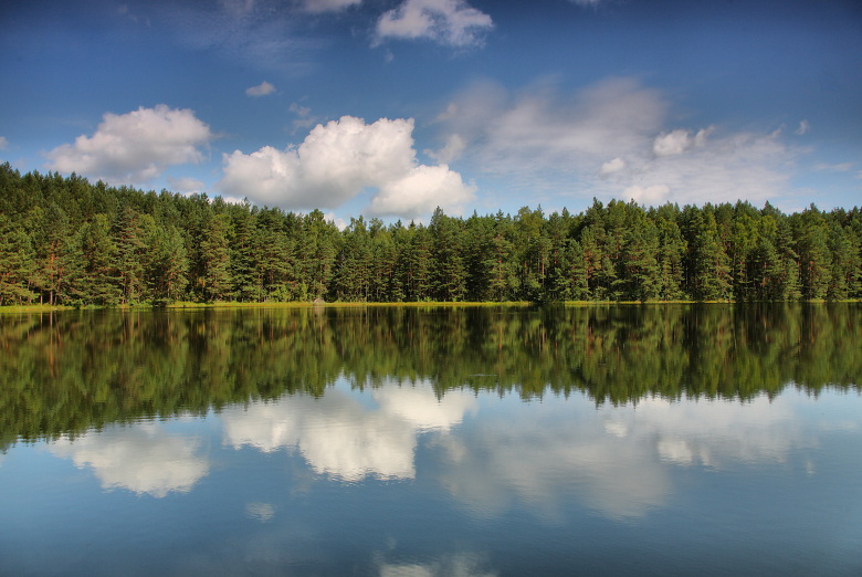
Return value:
[(505, 413), (482, 415), (480, 427), (438, 442), (440, 482), (481, 516), (519, 501), (555, 518), (575, 500), (611, 518), (640, 517), (674, 499), (675, 468), (807, 461), (800, 450), (819, 440), (799, 416), (813, 402), (791, 392), (745, 403), (644, 398), (597, 410), (572, 397), (522, 411), (516, 428)]

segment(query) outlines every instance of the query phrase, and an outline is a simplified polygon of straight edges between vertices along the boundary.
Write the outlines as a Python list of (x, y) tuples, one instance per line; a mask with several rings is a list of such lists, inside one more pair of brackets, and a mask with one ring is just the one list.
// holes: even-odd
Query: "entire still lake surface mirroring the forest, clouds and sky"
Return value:
[(0, 316), (0, 575), (861, 575), (862, 306)]

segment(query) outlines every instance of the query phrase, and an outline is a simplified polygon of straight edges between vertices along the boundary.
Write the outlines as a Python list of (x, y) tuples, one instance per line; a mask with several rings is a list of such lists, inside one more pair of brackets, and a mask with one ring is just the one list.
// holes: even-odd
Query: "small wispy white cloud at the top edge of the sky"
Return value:
[(377, 21), (376, 42), (428, 39), (450, 46), (481, 43), (491, 17), (464, 0), (406, 0)]

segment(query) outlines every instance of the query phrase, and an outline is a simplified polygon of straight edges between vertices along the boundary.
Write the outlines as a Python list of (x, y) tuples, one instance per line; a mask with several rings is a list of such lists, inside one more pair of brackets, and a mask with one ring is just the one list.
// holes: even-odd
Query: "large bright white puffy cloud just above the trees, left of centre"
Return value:
[(429, 204), (458, 212), (473, 187), (445, 165), (420, 165), (412, 132), (412, 119), (369, 125), (344, 116), (318, 124), (298, 147), (224, 155), (217, 188), (286, 209), (336, 208), (365, 189), (377, 189), (369, 208), (375, 214), (414, 217), (429, 211)]

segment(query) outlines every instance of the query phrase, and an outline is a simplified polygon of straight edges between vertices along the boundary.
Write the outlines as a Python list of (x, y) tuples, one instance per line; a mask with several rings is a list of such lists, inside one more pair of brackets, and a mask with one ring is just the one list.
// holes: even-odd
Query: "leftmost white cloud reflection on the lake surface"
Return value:
[(108, 426), (75, 440), (50, 445), (57, 457), (71, 458), (77, 468), (90, 466), (104, 489), (122, 487), (164, 497), (188, 492), (209, 472), (200, 440), (168, 433), (158, 423)]

